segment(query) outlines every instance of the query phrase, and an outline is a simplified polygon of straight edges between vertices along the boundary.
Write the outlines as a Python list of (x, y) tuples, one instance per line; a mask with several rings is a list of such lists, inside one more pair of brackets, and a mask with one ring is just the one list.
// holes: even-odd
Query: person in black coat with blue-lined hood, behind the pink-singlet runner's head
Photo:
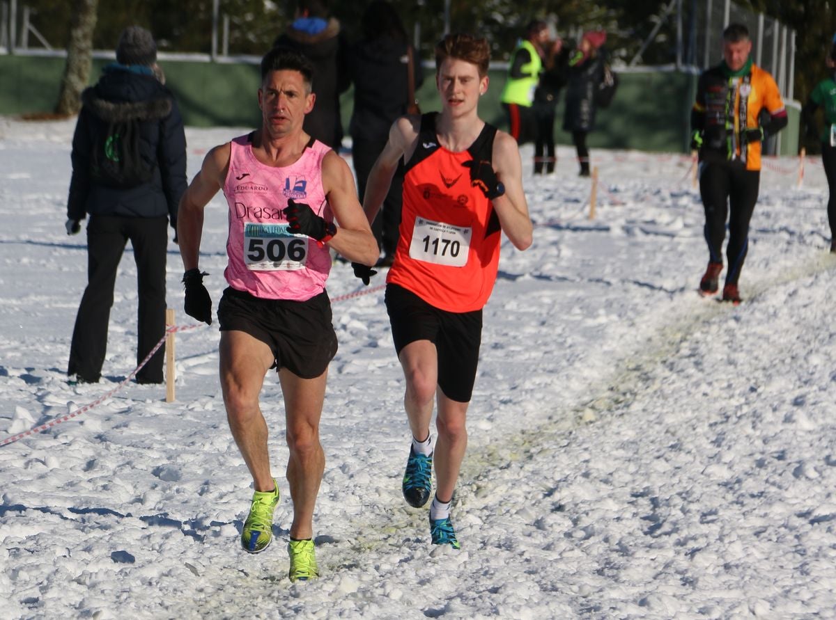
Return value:
[(348, 40), (339, 20), (329, 17), (322, 0), (298, 0), (293, 23), (280, 34), (273, 47), (294, 49), (314, 65), (314, 109), (305, 116), (303, 130), (332, 149), (343, 143), (343, 122), (339, 115), (339, 94), (349, 88), (345, 67)]

